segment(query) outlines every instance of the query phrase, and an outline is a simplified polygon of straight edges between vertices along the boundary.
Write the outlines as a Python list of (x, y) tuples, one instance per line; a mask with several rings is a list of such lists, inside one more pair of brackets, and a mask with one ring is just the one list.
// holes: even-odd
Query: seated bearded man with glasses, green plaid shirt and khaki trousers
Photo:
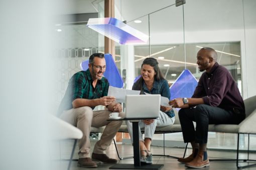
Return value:
[[(100, 140), (94, 146), (92, 158), (107, 163), (117, 160), (106, 155), (106, 149), (111, 144), (122, 121), (107, 121), (109, 113), (119, 112), (123, 117), (122, 106), (115, 102), (115, 97), (107, 96), (109, 83), (103, 76), (106, 61), (103, 53), (94, 53), (89, 57), (89, 68), (75, 73), (68, 84), (61, 101), (59, 117), (83, 132), (79, 141), (78, 165), (82, 167), (97, 167), (90, 158), (90, 129), (106, 125)], [(97, 105), (105, 105), (107, 110), (93, 111)]]

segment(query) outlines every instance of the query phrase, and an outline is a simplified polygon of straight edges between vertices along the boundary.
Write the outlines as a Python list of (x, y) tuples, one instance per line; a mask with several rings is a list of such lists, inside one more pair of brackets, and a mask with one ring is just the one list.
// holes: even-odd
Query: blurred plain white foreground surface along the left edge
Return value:
[[(0, 1), (0, 169), (50, 169), (51, 0)], [(55, 9), (55, 8), (54, 8)]]

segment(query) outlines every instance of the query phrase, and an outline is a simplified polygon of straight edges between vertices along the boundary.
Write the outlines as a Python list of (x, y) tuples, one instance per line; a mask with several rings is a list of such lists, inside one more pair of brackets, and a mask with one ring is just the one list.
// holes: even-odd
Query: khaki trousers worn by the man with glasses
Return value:
[[(83, 106), (65, 110), (60, 115), (61, 119), (73, 124), (83, 132), (83, 137), (79, 140), (79, 158), (90, 157), (89, 135), (91, 126), (101, 127), (106, 125), (100, 140), (96, 142), (93, 149), (94, 153), (106, 153), (106, 149), (122, 124), (122, 121), (107, 121), (109, 113), (111, 113), (109, 110), (92, 111), (91, 107)], [(124, 117), (124, 113), (120, 112), (119, 116)]]

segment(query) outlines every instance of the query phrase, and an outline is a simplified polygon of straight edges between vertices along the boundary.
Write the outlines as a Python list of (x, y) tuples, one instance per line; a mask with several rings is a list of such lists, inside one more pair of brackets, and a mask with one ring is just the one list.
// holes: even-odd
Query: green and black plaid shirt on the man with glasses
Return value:
[(92, 82), (89, 69), (75, 73), (68, 83), (66, 93), (59, 106), (58, 115), (64, 110), (73, 108), (72, 102), (76, 98), (95, 99), (107, 95), (109, 83), (105, 77), (97, 80), (95, 88)]

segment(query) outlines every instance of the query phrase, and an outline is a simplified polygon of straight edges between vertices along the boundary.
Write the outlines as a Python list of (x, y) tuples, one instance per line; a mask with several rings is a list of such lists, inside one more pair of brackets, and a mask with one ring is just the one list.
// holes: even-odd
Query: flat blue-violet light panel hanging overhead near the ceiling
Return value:
[(147, 43), (149, 36), (114, 17), (89, 18), (87, 26), (120, 44)]

